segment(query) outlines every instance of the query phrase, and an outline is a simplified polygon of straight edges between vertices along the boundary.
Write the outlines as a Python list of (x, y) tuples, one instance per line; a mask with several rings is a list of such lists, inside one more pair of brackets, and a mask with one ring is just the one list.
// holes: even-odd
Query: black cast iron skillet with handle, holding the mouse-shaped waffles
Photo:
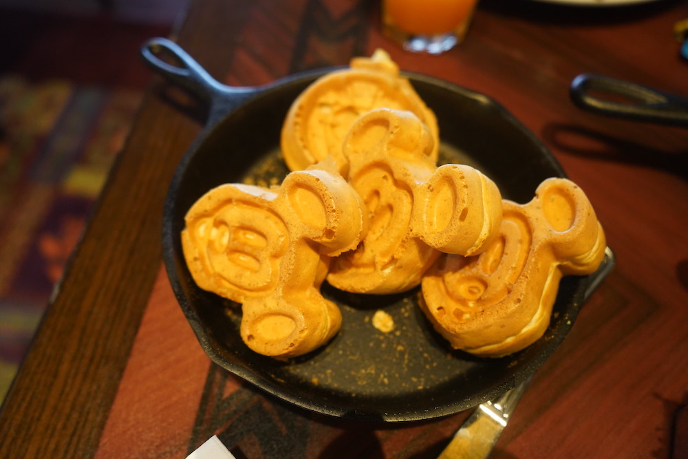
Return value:
[[(160, 58), (170, 54), (177, 64)], [(343, 313), (343, 328), (328, 345), (290, 361), (255, 354), (239, 336), (240, 307), (200, 290), (191, 279), (179, 236), (184, 214), (218, 184), (245, 178), (281, 182), (288, 173), (279, 157), (286, 111), (308, 84), (332, 69), (237, 89), (217, 83), (169, 40), (148, 41), (142, 55), (153, 70), (210, 106), (207, 126), (180, 162), (164, 206), (164, 262), (175, 295), (215, 363), (294, 405), (342, 418), (389, 422), (446, 416), (495, 398), (548, 359), (614, 264), (609, 252), (598, 273), (566, 278), (546, 336), (501, 359), (451, 350), (416, 307), (418, 289), (367, 296), (327, 284), (323, 295)], [(533, 198), (541, 180), (564, 175), (544, 145), (490, 98), (428, 76), (406, 76), (438, 117), (444, 162), (480, 167), (504, 197), (517, 202)], [(372, 327), (372, 314), (382, 308), (394, 318), (396, 332), (383, 334)]]

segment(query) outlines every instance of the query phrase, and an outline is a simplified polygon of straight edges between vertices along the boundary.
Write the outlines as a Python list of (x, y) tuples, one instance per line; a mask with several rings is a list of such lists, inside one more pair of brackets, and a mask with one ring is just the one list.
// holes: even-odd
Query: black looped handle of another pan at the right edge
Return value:
[[(602, 96), (594, 96), (591, 92), (617, 98), (621, 96), (629, 102), (617, 102)], [(571, 82), (570, 97), (579, 108), (597, 114), (688, 127), (688, 98), (666, 94), (628, 81), (581, 74)]]

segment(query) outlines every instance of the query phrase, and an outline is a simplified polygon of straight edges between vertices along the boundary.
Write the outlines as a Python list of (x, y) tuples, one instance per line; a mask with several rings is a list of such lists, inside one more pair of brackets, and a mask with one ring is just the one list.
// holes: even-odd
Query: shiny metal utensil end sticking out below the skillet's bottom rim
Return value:
[(509, 416), (513, 413), (523, 393), (526, 392), (531, 378), (494, 400), (478, 405), (473, 414), (456, 431), (438, 459), (487, 458), (506, 427)]

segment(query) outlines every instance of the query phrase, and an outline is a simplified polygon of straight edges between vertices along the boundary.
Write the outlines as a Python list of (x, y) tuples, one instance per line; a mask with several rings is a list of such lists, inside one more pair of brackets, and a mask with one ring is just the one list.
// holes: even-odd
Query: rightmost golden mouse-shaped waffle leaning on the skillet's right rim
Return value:
[(548, 327), (561, 277), (594, 273), (605, 246), (583, 191), (547, 179), (528, 204), (504, 201), (499, 236), (482, 254), (438, 260), (422, 280), (421, 308), (455, 349), (522, 350)]

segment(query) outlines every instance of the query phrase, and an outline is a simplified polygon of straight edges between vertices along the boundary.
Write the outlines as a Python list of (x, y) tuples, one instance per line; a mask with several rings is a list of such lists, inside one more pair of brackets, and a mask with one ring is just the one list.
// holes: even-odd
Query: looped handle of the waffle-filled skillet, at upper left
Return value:
[[(141, 56), (151, 70), (211, 106), (209, 125), (216, 116), (226, 114), (259, 91), (255, 87), (231, 87), (219, 83), (180, 45), (169, 39), (149, 39), (141, 47)], [(172, 58), (177, 63), (163, 61), (162, 56)]]

